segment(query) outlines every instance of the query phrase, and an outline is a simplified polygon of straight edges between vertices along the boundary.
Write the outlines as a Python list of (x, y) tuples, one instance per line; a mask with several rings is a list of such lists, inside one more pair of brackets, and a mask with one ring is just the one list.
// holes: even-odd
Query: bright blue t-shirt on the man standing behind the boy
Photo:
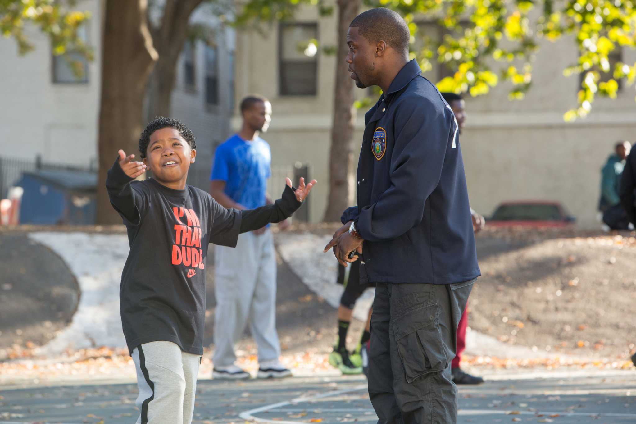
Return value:
[(270, 177), (270, 145), (260, 137), (245, 141), (235, 134), (216, 148), (211, 180), (225, 181), (225, 194), (247, 209), (265, 205)]

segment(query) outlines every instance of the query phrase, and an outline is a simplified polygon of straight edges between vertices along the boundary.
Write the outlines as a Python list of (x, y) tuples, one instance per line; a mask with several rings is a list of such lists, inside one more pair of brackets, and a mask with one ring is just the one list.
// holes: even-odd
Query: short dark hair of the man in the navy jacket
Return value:
[(408, 54), (411, 32), (404, 19), (396, 11), (374, 8), (357, 15), (349, 27), (357, 27), (358, 34), (369, 43), (384, 40), (394, 50)]

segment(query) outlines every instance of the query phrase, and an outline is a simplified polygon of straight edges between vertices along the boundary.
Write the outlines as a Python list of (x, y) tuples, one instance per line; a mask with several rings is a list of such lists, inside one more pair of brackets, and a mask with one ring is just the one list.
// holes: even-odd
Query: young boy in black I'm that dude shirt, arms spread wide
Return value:
[[(130, 253), (121, 274), (120, 312), (137, 368), (137, 424), (189, 424), (203, 354), (205, 256), (208, 243), (234, 247), (239, 233), (280, 222), (315, 184), (287, 186), (273, 205), (225, 209), (188, 186), (197, 156), (183, 123), (156, 118), (139, 139), (142, 161), (119, 151), (106, 188), (128, 230)], [(133, 181), (150, 169), (153, 178)]]

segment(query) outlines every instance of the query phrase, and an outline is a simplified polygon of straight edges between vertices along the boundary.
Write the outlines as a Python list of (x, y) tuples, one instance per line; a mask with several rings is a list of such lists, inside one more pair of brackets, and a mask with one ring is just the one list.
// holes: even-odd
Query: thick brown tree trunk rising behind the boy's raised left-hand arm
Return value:
[(120, 224), (106, 193), (106, 172), (118, 149), (139, 158), (143, 99), (158, 58), (146, 20), (146, 0), (108, 0), (102, 41), (97, 223)]

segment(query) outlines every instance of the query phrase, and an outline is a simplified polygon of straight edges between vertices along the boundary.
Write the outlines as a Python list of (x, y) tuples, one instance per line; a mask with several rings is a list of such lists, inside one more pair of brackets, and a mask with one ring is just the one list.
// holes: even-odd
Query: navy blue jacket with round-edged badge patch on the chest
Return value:
[(411, 60), (364, 116), (357, 207), (361, 282), (451, 284), (478, 277), (452, 110)]

